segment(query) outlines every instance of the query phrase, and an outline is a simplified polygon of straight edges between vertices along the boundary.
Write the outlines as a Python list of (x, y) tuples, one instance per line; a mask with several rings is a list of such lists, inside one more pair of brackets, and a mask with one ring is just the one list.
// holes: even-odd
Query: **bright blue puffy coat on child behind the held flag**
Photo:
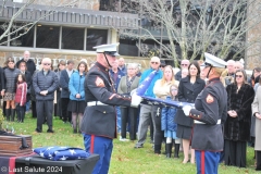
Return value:
[[(166, 100), (172, 100), (167, 97)], [(161, 130), (176, 132), (177, 124), (174, 122), (176, 108), (165, 107), (161, 110)]]

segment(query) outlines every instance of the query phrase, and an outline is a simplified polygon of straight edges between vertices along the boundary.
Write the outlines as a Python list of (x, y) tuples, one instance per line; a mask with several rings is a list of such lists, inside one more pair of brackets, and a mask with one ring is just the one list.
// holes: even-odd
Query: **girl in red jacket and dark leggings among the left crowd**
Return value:
[(17, 122), (23, 123), (25, 116), (25, 104), (26, 104), (27, 84), (24, 74), (17, 76), (17, 87), (15, 94)]

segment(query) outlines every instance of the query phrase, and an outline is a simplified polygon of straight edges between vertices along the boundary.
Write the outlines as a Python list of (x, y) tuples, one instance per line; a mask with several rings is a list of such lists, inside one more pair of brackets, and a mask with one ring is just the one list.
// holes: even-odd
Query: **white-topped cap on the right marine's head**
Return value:
[(215, 55), (212, 55), (208, 52), (204, 52), (206, 61), (202, 66), (212, 66), (212, 67), (226, 67), (226, 62)]

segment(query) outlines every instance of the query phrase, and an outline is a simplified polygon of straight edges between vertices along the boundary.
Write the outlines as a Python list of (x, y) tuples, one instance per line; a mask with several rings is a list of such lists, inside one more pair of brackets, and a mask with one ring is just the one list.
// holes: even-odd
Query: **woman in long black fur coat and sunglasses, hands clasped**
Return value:
[(253, 88), (244, 70), (235, 73), (235, 83), (226, 87), (227, 120), (224, 124), (225, 164), (246, 167), (247, 141), (250, 138)]

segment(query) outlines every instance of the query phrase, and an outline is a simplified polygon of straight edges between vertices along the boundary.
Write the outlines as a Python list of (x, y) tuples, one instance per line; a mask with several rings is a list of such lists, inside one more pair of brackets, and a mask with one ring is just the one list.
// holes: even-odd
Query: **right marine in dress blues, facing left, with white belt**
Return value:
[(209, 85), (195, 100), (195, 109), (184, 107), (184, 113), (194, 119), (191, 148), (196, 151), (197, 173), (217, 174), (220, 152), (223, 150), (224, 137), (222, 124), (226, 120), (227, 94), (220, 80), (226, 62), (204, 53), (204, 73)]

